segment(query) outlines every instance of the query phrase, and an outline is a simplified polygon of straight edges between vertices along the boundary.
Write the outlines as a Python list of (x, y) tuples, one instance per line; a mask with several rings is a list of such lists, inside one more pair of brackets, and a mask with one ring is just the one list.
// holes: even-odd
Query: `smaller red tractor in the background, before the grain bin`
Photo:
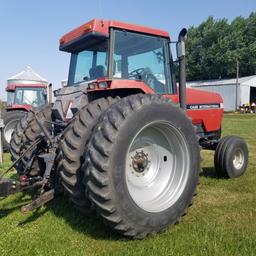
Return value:
[[(30, 67), (22, 72), (32, 73)], [(19, 74), (18, 74), (19, 75)], [(4, 130), (2, 141), (5, 150), (9, 150), (10, 141), (16, 124), (32, 107), (39, 108), (49, 102), (51, 84), (46, 81), (31, 81), (14, 78), (8, 79), (6, 87), (7, 106), (3, 113)]]

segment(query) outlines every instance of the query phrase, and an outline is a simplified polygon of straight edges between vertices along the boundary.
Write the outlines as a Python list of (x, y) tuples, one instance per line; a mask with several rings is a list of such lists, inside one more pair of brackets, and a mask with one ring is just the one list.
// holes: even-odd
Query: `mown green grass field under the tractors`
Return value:
[[(217, 179), (213, 152), (203, 151), (198, 195), (179, 225), (133, 241), (62, 198), (22, 215), (30, 197), (18, 194), (0, 200), (0, 255), (256, 255), (256, 115), (225, 115), (223, 133), (247, 140), (248, 170), (238, 179)], [(5, 162), (1, 170), (9, 155)]]

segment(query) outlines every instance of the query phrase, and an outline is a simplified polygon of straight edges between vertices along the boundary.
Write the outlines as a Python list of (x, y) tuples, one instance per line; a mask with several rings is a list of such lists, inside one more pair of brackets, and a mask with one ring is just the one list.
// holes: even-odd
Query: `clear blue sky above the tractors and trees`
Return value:
[(59, 38), (93, 18), (115, 19), (167, 30), (176, 40), (182, 27), (209, 15), (232, 20), (256, 11), (255, 0), (1, 0), (0, 99), (6, 79), (27, 64), (60, 87), (67, 78), (69, 54), (59, 52)]

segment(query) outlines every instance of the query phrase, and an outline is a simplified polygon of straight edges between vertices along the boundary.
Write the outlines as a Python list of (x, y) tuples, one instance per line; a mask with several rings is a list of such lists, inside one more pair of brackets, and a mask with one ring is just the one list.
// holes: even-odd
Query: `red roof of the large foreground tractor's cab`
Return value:
[(60, 49), (64, 50), (65, 45), (71, 44), (73, 41), (76, 41), (89, 33), (98, 34), (99, 36), (109, 37), (110, 28), (123, 29), (128, 31), (134, 31), (139, 33), (144, 33), (153, 36), (160, 36), (169, 38), (169, 34), (166, 31), (154, 29), (150, 27), (128, 24), (115, 20), (102, 20), (102, 19), (93, 19), (82, 26), (73, 29), (69, 33), (65, 34), (60, 39)]

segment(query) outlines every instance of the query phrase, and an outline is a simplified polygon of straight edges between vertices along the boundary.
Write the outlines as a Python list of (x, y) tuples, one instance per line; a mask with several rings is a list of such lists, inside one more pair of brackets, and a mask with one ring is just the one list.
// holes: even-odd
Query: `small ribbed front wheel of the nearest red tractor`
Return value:
[(238, 136), (223, 137), (214, 154), (214, 165), (218, 176), (237, 178), (248, 165), (248, 147), (244, 139)]

